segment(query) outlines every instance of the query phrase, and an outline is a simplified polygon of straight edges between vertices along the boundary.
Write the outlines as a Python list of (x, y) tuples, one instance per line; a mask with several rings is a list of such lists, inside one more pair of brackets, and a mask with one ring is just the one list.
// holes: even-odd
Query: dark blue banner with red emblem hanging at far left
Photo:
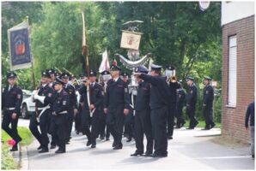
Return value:
[(12, 27), (8, 30), (10, 69), (23, 69), (32, 67), (30, 53), (28, 22)]

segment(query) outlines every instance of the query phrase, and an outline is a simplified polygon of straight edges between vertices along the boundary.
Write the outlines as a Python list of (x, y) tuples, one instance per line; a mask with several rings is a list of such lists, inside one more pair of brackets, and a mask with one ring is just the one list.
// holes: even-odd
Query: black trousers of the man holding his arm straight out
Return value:
[(151, 109), (150, 119), (152, 124), (152, 133), (155, 140), (154, 153), (157, 155), (168, 154), (168, 107)]

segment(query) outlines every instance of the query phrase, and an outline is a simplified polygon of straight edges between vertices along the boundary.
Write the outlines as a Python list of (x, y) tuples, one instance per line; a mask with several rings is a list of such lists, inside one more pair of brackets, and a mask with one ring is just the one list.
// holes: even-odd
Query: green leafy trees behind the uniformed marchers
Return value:
[[(9, 2), (2, 7), (2, 74), (9, 70), (7, 29), (29, 16), (36, 79), (45, 68), (85, 70), (82, 51), (82, 14), (85, 12), (90, 68), (98, 70), (107, 48), (126, 56), (120, 38), (125, 21), (140, 20), (143, 32), (140, 54), (153, 53), (159, 65), (173, 64), (179, 80), (193, 75), (198, 85), (198, 117), (201, 117), (202, 77), (210, 75), (221, 85), (221, 6), (211, 2), (201, 11), (198, 2)], [(119, 63), (121, 65), (121, 63)], [(17, 72), (19, 85), (33, 89), (31, 69)], [(186, 87), (186, 85), (184, 85)], [(220, 98), (216, 98), (220, 109)], [(217, 111), (220, 115), (220, 110)], [(219, 117), (220, 118), (220, 117)], [(219, 120), (219, 119), (217, 119)]]

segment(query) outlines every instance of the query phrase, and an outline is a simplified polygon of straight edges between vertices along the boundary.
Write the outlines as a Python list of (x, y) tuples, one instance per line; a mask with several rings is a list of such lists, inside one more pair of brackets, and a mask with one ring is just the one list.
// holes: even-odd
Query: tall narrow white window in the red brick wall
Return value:
[(230, 107), (236, 106), (236, 68), (237, 68), (236, 35), (229, 37), (229, 100)]

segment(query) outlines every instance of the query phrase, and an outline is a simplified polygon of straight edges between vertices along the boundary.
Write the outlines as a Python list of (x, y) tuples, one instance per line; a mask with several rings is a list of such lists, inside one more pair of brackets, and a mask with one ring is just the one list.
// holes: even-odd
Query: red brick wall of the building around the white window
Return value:
[[(229, 81), (229, 36), (237, 38), (236, 107), (227, 107)], [(254, 15), (222, 27), (222, 134), (249, 140), (244, 118), (247, 104), (254, 99)]]

